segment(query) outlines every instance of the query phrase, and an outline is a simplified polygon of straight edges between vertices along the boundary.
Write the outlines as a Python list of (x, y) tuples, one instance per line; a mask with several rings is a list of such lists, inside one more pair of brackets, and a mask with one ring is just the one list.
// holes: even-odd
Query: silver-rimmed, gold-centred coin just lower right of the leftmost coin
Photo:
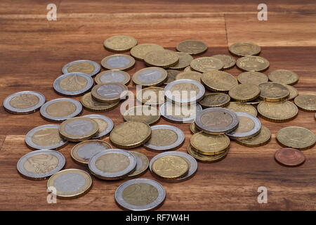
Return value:
[(56, 98), (41, 106), (41, 116), (48, 121), (62, 122), (82, 112), (82, 105), (72, 98)]

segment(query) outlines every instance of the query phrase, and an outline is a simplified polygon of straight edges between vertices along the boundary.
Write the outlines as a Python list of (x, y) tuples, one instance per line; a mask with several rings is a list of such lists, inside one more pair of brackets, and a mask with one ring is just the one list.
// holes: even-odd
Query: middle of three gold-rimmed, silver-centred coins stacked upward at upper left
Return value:
[(127, 85), (129, 84), (130, 79), (131, 77), (128, 72), (121, 70), (105, 70), (98, 73), (94, 80), (97, 84), (119, 83)]

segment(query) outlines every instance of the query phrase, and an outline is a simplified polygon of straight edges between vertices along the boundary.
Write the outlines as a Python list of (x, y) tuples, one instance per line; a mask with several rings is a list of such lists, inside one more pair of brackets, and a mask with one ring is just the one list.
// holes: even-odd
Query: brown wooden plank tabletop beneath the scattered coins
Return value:
[[(265, 1), (268, 21), (258, 21), (259, 1), (53, 1), (57, 21), (46, 20), (44, 1), (0, 3), (0, 100), (16, 91), (40, 91), (47, 100), (58, 98), (53, 81), (72, 60), (100, 60), (111, 53), (103, 41), (114, 34), (129, 34), (139, 43), (155, 43), (174, 49), (184, 39), (198, 39), (209, 46), (203, 56), (228, 53), (237, 41), (254, 41), (262, 46), (260, 56), (270, 61), (266, 73), (277, 69), (297, 72), (295, 87), (300, 94), (315, 92), (316, 4), (315, 1)], [(137, 62), (129, 74), (143, 68)], [(237, 76), (237, 68), (228, 70)], [(129, 84), (135, 91), (135, 86)], [(77, 98), (79, 99), (79, 98)], [(89, 114), (84, 111), (84, 115)], [(123, 122), (119, 107), (102, 113), (117, 125)], [(30, 150), (27, 131), (43, 124), (39, 112), (11, 115), (0, 108), (0, 210), (119, 210), (114, 191), (124, 181), (93, 178), (91, 191), (75, 200), (46, 202), (46, 181), (22, 179), (16, 171), (18, 159)], [(301, 167), (282, 167), (274, 160), (280, 146), (275, 140), (282, 127), (302, 126), (316, 132), (315, 113), (301, 110), (295, 120), (263, 124), (272, 131), (268, 145), (247, 148), (232, 141), (228, 157), (213, 164), (200, 163), (197, 174), (184, 183), (168, 184), (166, 201), (159, 210), (315, 210), (316, 153), (305, 150)], [(171, 124), (163, 118), (159, 124)], [(176, 124), (185, 132), (185, 152), (190, 141), (189, 124)], [(109, 141), (108, 138), (105, 141)], [(60, 150), (65, 168), (86, 169), (70, 158), (73, 144)], [(152, 158), (155, 153), (136, 148)], [(154, 179), (150, 172), (143, 178)], [(268, 203), (257, 202), (258, 187), (268, 188)]]

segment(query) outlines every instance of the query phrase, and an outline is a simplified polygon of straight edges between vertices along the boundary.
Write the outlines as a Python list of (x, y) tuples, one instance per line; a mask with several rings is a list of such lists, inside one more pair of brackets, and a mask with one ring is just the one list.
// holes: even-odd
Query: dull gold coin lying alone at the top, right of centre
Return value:
[(207, 50), (207, 45), (202, 41), (185, 40), (180, 41), (177, 44), (176, 49), (195, 56), (204, 53)]

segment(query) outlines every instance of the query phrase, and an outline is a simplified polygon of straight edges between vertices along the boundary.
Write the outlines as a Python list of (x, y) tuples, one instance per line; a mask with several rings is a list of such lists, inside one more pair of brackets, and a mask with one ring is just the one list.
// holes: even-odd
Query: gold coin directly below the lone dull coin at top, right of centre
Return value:
[(190, 67), (197, 72), (207, 72), (210, 70), (220, 70), (224, 66), (224, 63), (213, 57), (200, 57), (195, 58), (190, 63)]

